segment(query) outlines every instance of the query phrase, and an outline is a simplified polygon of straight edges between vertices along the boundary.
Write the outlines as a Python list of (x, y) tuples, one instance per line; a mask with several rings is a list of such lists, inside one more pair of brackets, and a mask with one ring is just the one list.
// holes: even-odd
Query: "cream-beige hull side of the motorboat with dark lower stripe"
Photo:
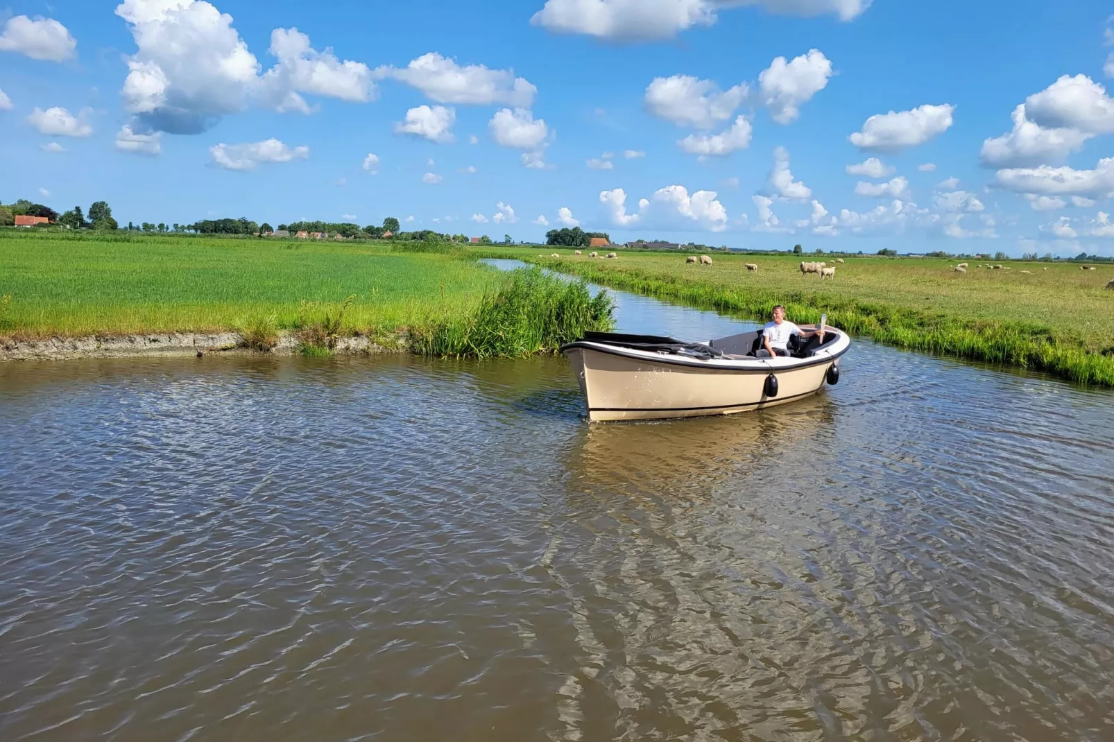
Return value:
[[(837, 359), (785, 369), (697, 368), (590, 348), (565, 351), (584, 393), (588, 419), (661, 420), (735, 414), (814, 394)], [(765, 394), (771, 372), (778, 396)]]

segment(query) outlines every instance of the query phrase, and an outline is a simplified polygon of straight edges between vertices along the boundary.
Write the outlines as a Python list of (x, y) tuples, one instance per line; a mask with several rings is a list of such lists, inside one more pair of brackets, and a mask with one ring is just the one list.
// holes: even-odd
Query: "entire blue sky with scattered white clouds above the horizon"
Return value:
[(1114, 254), (1111, 11), (13, 0), (0, 201), (107, 199), (123, 223)]

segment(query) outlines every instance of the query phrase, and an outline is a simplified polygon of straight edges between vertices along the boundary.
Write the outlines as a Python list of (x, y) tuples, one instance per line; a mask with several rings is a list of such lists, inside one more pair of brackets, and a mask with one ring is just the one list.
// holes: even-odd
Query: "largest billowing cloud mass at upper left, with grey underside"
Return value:
[(137, 47), (128, 58), (125, 106), (156, 130), (197, 134), (252, 104), (311, 113), (301, 94), (359, 101), (377, 95), (367, 65), (315, 51), (297, 29), (272, 32), (270, 51), (278, 61), (263, 72), (232, 16), (204, 0), (124, 0), (116, 14)]

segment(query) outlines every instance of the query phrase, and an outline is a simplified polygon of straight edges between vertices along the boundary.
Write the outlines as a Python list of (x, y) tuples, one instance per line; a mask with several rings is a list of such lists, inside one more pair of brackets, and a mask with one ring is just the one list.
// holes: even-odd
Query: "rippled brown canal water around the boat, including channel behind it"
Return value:
[(589, 426), (561, 359), (0, 365), (0, 740), (1114, 739), (1114, 394), (842, 370)]

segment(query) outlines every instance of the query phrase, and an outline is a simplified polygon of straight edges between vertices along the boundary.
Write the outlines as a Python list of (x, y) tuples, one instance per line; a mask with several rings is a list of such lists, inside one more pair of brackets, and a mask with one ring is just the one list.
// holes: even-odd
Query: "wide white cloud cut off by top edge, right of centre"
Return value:
[(716, 11), (734, 6), (759, 6), (791, 16), (836, 14), (852, 20), (871, 0), (546, 0), (530, 18), (558, 33), (584, 33), (605, 39), (668, 39), (694, 26), (712, 26)]

